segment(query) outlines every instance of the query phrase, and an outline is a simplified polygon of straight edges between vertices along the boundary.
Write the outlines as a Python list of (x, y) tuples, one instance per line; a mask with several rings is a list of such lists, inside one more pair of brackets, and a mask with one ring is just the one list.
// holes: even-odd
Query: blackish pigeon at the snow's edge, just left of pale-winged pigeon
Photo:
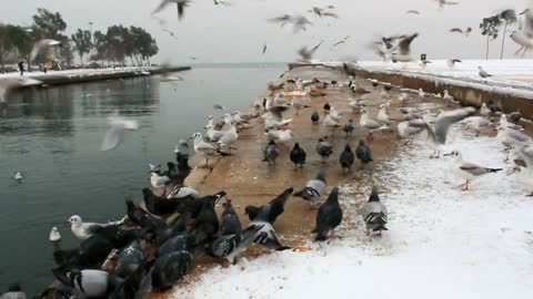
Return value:
[(320, 205), (316, 213), (316, 226), (313, 233), (316, 233), (315, 241), (324, 241), (330, 237), (330, 233), (333, 231), (342, 223), (342, 208), (339, 205), (339, 188), (334, 187), (328, 200)]

